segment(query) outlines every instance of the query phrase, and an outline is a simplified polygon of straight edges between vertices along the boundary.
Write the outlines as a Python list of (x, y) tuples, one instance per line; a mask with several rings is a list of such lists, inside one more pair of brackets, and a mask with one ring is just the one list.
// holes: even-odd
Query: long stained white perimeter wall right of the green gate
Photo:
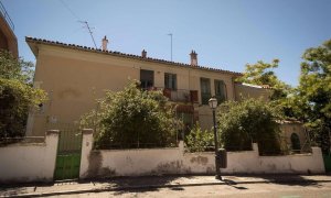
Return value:
[[(81, 178), (138, 176), (162, 174), (212, 174), (215, 172), (214, 153), (184, 153), (181, 142), (174, 148), (99, 150), (92, 151), (92, 131), (83, 135)], [(322, 153), (312, 147), (311, 154), (259, 156), (254, 151), (228, 152), (226, 174), (324, 173)]]

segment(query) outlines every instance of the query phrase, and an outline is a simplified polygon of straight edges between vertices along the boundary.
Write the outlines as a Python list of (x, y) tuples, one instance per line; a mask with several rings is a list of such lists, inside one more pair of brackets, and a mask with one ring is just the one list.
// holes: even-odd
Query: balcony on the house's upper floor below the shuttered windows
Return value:
[(173, 102), (199, 102), (197, 90), (186, 90), (186, 89), (168, 89), (163, 87), (157, 87), (153, 90), (161, 90), (163, 96), (169, 98), (170, 101)]

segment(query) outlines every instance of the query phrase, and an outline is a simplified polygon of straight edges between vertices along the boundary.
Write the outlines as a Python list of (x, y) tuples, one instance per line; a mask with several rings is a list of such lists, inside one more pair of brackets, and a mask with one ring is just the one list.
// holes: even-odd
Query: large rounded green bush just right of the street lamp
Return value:
[(260, 154), (279, 154), (277, 111), (260, 100), (227, 101), (218, 108), (221, 143), (228, 151), (243, 151), (257, 142)]

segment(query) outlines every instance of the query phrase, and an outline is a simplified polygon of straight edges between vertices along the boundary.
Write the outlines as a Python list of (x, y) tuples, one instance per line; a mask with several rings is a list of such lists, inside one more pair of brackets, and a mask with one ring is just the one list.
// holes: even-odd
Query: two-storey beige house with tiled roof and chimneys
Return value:
[(44, 135), (46, 130), (61, 129), (79, 120), (92, 109), (105, 90), (118, 91), (128, 79), (138, 79), (143, 89), (159, 89), (175, 106), (175, 113), (189, 130), (195, 121), (211, 129), (212, 111), (209, 99), (218, 102), (263, 98), (268, 100), (268, 87), (237, 84), (241, 73), (203, 67), (192, 51), (190, 64), (174, 63), (141, 55), (108, 51), (106, 36), (103, 50), (26, 37), (36, 57), (34, 86), (44, 89), (49, 101), (30, 113), (26, 135)]

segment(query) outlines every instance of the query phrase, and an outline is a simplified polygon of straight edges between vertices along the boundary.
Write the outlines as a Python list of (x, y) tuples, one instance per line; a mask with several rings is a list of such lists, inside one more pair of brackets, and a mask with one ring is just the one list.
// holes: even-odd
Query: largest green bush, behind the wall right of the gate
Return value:
[[(83, 117), (83, 127), (97, 131), (95, 146), (170, 146), (175, 140), (175, 120), (160, 91), (143, 91), (130, 81), (122, 91), (107, 91), (99, 108)], [(140, 145), (140, 146), (139, 146)]]

